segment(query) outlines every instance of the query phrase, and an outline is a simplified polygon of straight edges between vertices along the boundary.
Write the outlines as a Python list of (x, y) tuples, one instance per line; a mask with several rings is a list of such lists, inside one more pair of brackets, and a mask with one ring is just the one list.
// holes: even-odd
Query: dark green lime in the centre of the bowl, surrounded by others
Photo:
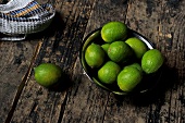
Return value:
[(124, 62), (133, 54), (131, 47), (124, 41), (114, 41), (109, 46), (108, 56), (114, 62)]

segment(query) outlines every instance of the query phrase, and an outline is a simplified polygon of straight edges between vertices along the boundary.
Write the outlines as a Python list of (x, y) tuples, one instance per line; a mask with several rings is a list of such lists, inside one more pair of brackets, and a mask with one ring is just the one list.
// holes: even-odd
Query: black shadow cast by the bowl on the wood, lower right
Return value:
[(163, 65), (161, 77), (152, 89), (146, 93), (133, 94), (126, 97), (115, 95), (115, 98), (121, 102), (124, 101), (125, 98), (130, 98), (133, 104), (143, 107), (159, 101), (162, 103), (164, 102), (165, 93), (170, 90), (175, 84), (178, 84), (177, 70)]

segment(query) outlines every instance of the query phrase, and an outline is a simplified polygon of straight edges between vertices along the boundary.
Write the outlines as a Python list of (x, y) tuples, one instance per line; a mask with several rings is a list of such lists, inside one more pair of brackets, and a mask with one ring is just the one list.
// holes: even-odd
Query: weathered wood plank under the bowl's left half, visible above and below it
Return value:
[[(109, 21), (124, 22), (126, 15), (125, 0), (97, 0), (88, 21), (85, 36)], [(104, 120), (109, 91), (91, 83), (82, 74), (79, 61), (76, 61), (73, 79), (77, 82), (69, 94), (61, 123), (101, 123)]]

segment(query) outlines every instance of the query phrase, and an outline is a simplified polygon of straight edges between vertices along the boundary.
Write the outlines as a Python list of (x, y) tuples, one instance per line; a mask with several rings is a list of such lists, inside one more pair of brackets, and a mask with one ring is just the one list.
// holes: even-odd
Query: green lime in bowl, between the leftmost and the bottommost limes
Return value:
[(108, 61), (99, 71), (98, 78), (104, 84), (113, 84), (116, 82), (116, 76), (119, 75), (121, 67), (112, 62)]

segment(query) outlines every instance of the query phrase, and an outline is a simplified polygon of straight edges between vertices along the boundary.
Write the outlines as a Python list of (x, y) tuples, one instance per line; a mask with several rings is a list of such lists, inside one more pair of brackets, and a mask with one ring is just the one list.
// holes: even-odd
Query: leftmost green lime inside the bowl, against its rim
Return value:
[(104, 50), (97, 44), (91, 44), (85, 51), (85, 60), (90, 67), (99, 67), (104, 61)]

